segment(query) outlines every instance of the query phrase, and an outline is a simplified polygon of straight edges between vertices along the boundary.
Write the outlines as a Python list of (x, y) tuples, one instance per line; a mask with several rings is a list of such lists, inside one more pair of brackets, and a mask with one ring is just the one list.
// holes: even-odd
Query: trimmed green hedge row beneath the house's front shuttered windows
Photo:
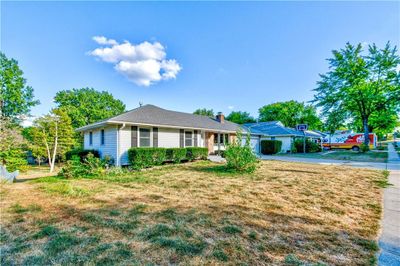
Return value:
[(164, 162), (180, 163), (184, 160), (206, 159), (207, 148), (130, 148), (128, 150), (129, 162), (133, 169), (143, 169)]

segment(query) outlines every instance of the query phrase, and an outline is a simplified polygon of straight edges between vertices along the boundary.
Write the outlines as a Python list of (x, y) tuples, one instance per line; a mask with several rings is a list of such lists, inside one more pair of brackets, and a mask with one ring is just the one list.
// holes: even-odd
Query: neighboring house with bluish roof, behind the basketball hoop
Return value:
[[(247, 123), (242, 127), (250, 133), (251, 146), (256, 153), (261, 153), (261, 140), (280, 140), (282, 141), (280, 152), (290, 152), (294, 140), (304, 137), (303, 132), (285, 127), (280, 121)], [(307, 138), (321, 143), (323, 136), (319, 132), (307, 130), (305, 133)]]

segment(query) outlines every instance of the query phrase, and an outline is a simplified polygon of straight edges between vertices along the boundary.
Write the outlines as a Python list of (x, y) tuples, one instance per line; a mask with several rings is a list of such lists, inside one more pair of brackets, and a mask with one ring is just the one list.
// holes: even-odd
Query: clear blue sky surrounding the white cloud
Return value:
[[(107, 90), (127, 109), (142, 101), (257, 115), (265, 104), (311, 100), (325, 59), (346, 42), (399, 45), (399, 14), (400, 2), (2, 1), (1, 51), (19, 61), (41, 101), (33, 115), (47, 113), (57, 91), (81, 87)], [(114, 69), (123, 59), (90, 54), (105, 47), (94, 36), (136, 48), (159, 42), (158, 66), (176, 60), (181, 69), (137, 85), (138, 65), (132, 80)]]

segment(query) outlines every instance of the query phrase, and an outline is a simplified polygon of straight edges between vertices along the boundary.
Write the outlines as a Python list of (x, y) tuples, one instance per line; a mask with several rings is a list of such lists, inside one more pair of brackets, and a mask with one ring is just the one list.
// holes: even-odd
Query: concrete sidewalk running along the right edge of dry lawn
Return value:
[(382, 233), (379, 238), (379, 265), (400, 265), (400, 159), (393, 144), (388, 146), (388, 162), (393, 165), (383, 195)]

